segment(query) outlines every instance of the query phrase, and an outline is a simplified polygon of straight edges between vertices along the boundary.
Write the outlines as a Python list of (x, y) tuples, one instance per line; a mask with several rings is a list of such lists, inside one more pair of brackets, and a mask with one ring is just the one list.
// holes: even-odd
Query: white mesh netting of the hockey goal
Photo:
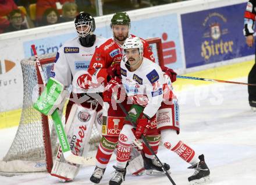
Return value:
[[(55, 57), (55, 54), (40, 55), (38, 58), (49, 59)], [(33, 108), (33, 100), (38, 97), (38, 79), (34, 57), (23, 59), (21, 62), (23, 73), (23, 108), (20, 118), (19, 127), (12, 145), (8, 153), (0, 161), (0, 172), (34, 172), (46, 170), (45, 148), (42, 131), (42, 116)], [(51, 73), (51, 63), (42, 65), (45, 79), (48, 79)], [(65, 116), (63, 116), (65, 117)], [(49, 120), (49, 131), (51, 136), (52, 155), (56, 155), (56, 134), (52, 127), (52, 121)], [(94, 126), (90, 138), (91, 150), (97, 148), (97, 143), (101, 136), (97, 128)], [(25, 163), (34, 162), (33, 165), (38, 165), (37, 168), (31, 169), (31, 166), (26, 166)], [(20, 167), (17, 168), (17, 164)]]

